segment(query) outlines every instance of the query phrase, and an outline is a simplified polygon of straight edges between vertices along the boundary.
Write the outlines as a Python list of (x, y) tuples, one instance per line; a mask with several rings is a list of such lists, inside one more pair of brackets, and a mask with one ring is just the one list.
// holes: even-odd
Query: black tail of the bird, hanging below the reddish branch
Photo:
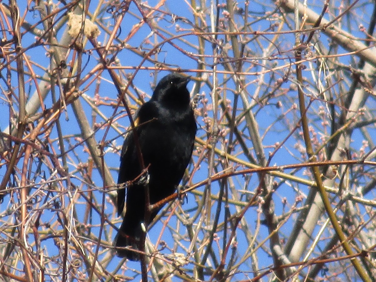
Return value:
[[(127, 258), (131, 261), (139, 261), (139, 253), (133, 250), (139, 250), (139, 244), (142, 237), (141, 222), (135, 218), (126, 216), (120, 226), (119, 232), (115, 237), (115, 247), (117, 256)], [(129, 249), (124, 249), (128, 247)]]

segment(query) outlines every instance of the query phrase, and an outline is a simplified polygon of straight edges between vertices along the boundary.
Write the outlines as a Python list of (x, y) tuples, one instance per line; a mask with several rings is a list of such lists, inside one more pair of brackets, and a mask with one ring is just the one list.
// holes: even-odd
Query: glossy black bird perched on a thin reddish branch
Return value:
[[(172, 73), (156, 86), (149, 102), (135, 115), (136, 132), (145, 167), (149, 166), (150, 203), (156, 203), (174, 193), (190, 162), (197, 125), (186, 88), (189, 78)], [(120, 157), (118, 183), (135, 179), (141, 173), (139, 156), (132, 131), (127, 133)], [(142, 235), (141, 223), (146, 226), (158, 213), (154, 211), (145, 220), (145, 184), (133, 182), (127, 191), (118, 192), (118, 214), (126, 201), (126, 212), (120, 231), (115, 238), (116, 247), (138, 249)], [(142, 242), (144, 244), (144, 242)], [(117, 255), (138, 261), (139, 255), (117, 249)]]

